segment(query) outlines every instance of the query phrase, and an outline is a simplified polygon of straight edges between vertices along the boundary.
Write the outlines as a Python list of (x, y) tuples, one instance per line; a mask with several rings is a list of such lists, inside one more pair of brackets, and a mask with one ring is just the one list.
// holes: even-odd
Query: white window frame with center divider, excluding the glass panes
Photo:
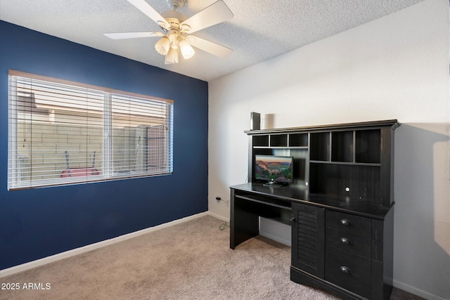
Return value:
[[(52, 84), (63, 84), (72, 86), (74, 89), (86, 89), (93, 90), (95, 92), (103, 93), (104, 105), (102, 112), (103, 124), (101, 125), (101, 129), (103, 131), (103, 151), (102, 151), (102, 165), (103, 171), (102, 174), (99, 175), (89, 175), (89, 176), (81, 176), (79, 178), (68, 177), (66, 180), (61, 178), (58, 179), (34, 179), (31, 178), (27, 180), (27, 184), (21, 183), (18, 177), (18, 103), (20, 102), (17, 90), (17, 77), (23, 77), (25, 79), (36, 79), (39, 81), (49, 81)], [(22, 190), (28, 188), (44, 188), (50, 186), (60, 186), (60, 185), (72, 185), (72, 184), (84, 184), (84, 183), (93, 183), (98, 181), (111, 181), (111, 180), (119, 180), (119, 179), (128, 179), (128, 178), (141, 178), (148, 176), (165, 176), (173, 173), (173, 128), (174, 128), (174, 100), (143, 95), (140, 93), (133, 93), (129, 91), (120, 91), (116, 89), (105, 88), (102, 86), (94, 86), (91, 84), (83, 84), (76, 81), (69, 81), (65, 79), (57, 79), (53, 77), (47, 77), (38, 74), (30, 74), (27, 72), (21, 72), (16, 70), (8, 70), (8, 190)], [(160, 103), (162, 105), (166, 105), (165, 110), (165, 129), (167, 133), (165, 133), (165, 143), (158, 148), (160, 151), (164, 152), (162, 155), (166, 160), (167, 164), (165, 164), (164, 171), (161, 172), (141, 172), (139, 174), (113, 174), (113, 143), (111, 142), (111, 132), (113, 131), (113, 108), (112, 108), (112, 98), (113, 97), (128, 97), (134, 100), (150, 100), (153, 103)], [(131, 103), (131, 100), (130, 100)], [(72, 107), (70, 107), (72, 108)], [(122, 113), (122, 112), (121, 112)], [(130, 116), (132, 114), (129, 114)], [(149, 119), (151, 117), (148, 117)], [(167, 121), (168, 120), (168, 121)], [(34, 121), (36, 122), (36, 121)], [(82, 127), (80, 127), (82, 128)], [(146, 129), (148, 130), (148, 128)], [(139, 140), (141, 136), (139, 136)], [(139, 142), (138, 142), (139, 143)], [(148, 145), (148, 144), (147, 144)], [(32, 152), (30, 152), (32, 153)], [(95, 155), (95, 154), (94, 154)], [(148, 155), (148, 153), (147, 153)], [(95, 156), (94, 156), (95, 159)], [(32, 169), (32, 167), (30, 167)], [(147, 165), (148, 169), (148, 165)], [(57, 173), (55, 173), (57, 174)], [(30, 176), (32, 177), (32, 176)], [(62, 177), (62, 176), (61, 176)], [(42, 183), (40, 183), (40, 181)], [(54, 181), (54, 182), (52, 182)]]

